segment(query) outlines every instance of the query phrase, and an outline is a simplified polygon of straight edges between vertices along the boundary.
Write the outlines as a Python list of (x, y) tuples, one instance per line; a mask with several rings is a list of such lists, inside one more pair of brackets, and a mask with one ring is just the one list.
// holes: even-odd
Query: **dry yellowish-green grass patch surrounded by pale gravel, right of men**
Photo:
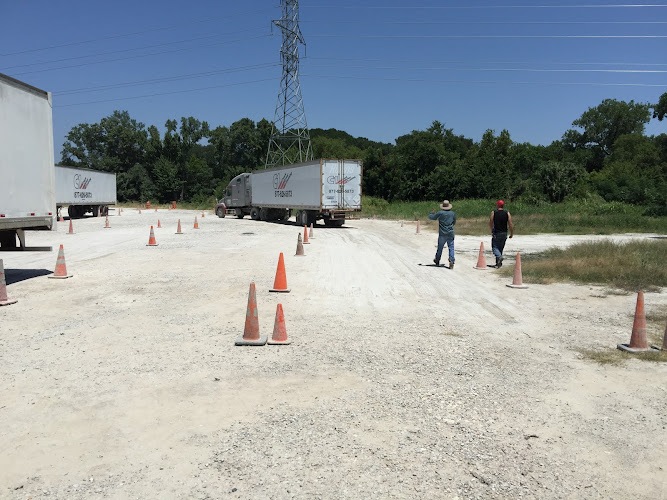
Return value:
[(578, 243), (565, 249), (527, 254), (521, 260), (527, 282), (574, 281), (634, 292), (667, 287), (666, 258), (667, 240), (632, 240)]

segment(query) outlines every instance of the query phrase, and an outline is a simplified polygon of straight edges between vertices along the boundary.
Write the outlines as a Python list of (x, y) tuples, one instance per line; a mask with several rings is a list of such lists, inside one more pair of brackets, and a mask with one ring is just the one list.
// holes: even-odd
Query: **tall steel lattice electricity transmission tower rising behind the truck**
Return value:
[(283, 17), (273, 23), (283, 34), (280, 93), (269, 139), (265, 168), (313, 159), (313, 147), (299, 85), (299, 43), (306, 45), (299, 29), (299, 0), (280, 0)]

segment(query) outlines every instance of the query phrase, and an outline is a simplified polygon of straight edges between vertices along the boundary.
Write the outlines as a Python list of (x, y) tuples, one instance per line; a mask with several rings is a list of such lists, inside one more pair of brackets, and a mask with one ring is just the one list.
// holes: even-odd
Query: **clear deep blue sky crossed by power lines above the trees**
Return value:
[[(127, 110), (164, 130), (273, 119), (279, 0), (0, 0), (0, 72), (54, 93), (71, 127)], [(439, 120), (549, 144), (603, 99), (667, 92), (667, 1), (302, 0), (310, 128), (393, 142)], [(653, 120), (647, 133), (667, 132)]]

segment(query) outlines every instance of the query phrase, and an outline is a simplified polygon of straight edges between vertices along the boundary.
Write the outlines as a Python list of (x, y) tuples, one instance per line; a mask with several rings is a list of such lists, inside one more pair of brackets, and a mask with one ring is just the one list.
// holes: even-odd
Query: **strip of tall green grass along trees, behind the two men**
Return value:
[[(456, 212), (457, 234), (482, 235), (489, 232), (489, 216), (495, 200), (451, 200)], [(441, 202), (393, 202), (366, 196), (363, 216), (424, 221)], [(614, 234), (627, 232), (667, 233), (667, 217), (647, 217), (645, 207), (601, 198), (564, 203), (508, 203), (517, 234)]]

